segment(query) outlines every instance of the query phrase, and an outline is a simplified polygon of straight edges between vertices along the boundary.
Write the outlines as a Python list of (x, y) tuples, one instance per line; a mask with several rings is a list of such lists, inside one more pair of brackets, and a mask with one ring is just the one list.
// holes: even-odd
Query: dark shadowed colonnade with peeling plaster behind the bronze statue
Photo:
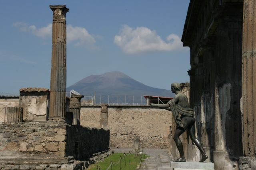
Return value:
[(194, 0), (182, 35), (190, 47), (190, 107), (217, 170), (237, 169), (242, 155), (242, 16), (242, 0)]

